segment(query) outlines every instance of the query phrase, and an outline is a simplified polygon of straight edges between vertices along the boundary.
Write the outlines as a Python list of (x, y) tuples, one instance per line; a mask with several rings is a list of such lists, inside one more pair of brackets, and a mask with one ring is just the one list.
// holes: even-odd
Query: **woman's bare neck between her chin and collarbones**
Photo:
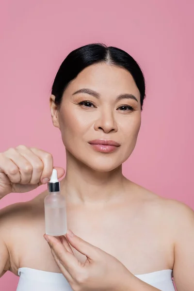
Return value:
[(98, 172), (70, 153), (66, 154), (66, 175), (61, 181), (61, 192), (70, 203), (97, 206), (121, 200), (129, 183), (122, 175), (121, 165), (110, 172)]

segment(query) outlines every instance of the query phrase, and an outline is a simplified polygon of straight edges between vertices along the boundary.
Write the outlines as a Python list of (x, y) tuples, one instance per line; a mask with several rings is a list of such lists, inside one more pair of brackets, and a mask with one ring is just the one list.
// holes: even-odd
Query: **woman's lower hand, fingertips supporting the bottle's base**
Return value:
[[(118, 291), (125, 289), (130, 276), (129, 270), (112, 255), (83, 241), (68, 231), (65, 236), (44, 235), (51, 253), (74, 291)], [(73, 254), (72, 245), (86, 256), (81, 263)], [(129, 286), (129, 285), (128, 285)]]

